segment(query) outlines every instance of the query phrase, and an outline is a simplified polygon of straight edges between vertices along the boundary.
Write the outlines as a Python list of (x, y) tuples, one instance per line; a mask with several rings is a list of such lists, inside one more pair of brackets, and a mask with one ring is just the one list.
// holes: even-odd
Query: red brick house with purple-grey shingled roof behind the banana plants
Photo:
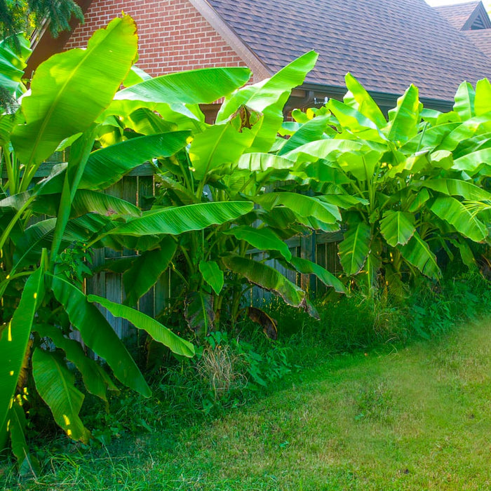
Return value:
[(319, 60), (295, 91), (297, 107), (341, 97), (346, 72), (382, 107), (393, 107), (415, 83), (426, 107), (443, 110), (463, 80), (491, 78), (485, 50), (424, 0), (78, 1), (85, 24), (54, 43), (43, 34), (32, 67), (47, 53), (85, 46), (95, 29), (124, 11), (138, 25), (137, 65), (153, 76), (228, 65), (248, 66), (261, 80), (315, 49)]

